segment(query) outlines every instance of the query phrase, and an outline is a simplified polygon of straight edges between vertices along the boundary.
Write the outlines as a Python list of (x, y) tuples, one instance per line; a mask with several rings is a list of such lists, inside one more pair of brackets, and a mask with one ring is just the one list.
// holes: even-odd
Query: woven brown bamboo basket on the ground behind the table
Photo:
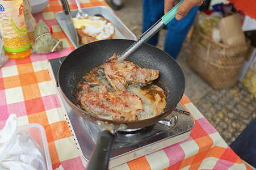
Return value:
[(236, 85), (244, 63), (250, 40), (242, 45), (224, 45), (212, 39), (211, 23), (208, 20), (209, 33), (205, 35), (199, 29), (199, 15), (191, 37), (188, 65), (215, 89)]

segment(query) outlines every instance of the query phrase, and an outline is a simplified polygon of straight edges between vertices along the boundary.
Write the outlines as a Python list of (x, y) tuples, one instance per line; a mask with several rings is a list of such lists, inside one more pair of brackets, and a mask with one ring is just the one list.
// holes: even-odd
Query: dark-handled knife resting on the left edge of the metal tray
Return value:
[(69, 38), (69, 40), (74, 45), (75, 49), (78, 48), (78, 36), (77, 31), (75, 30), (75, 27), (73, 25), (72, 16), (70, 15), (70, 9), (69, 9), (69, 3), (67, 0), (61, 0), (62, 8), (64, 10), (64, 14), (68, 15), (66, 17), (66, 27), (67, 29), (63, 30), (66, 34), (66, 36)]

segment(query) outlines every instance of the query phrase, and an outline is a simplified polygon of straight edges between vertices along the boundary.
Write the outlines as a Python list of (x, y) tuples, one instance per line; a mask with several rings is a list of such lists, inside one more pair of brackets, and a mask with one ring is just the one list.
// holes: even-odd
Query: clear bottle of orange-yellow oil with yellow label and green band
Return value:
[(31, 54), (23, 0), (0, 0), (0, 30), (3, 49), (10, 59), (23, 59)]

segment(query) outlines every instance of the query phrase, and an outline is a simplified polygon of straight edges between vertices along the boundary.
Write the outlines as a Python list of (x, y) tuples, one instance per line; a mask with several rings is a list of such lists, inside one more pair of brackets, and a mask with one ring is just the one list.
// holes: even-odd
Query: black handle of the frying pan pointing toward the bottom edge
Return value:
[(108, 130), (100, 131), (93, 156), (87, 170), (108, 169), (110, 150), (113, 145), (115, 135)]

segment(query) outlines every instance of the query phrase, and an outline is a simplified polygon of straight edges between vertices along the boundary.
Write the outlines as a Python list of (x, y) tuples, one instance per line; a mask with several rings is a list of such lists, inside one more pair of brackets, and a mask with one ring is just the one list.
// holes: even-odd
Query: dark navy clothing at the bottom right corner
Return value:
[(256, 168), (256, 118), (230, 144), (230, 148), (242, 160)]

